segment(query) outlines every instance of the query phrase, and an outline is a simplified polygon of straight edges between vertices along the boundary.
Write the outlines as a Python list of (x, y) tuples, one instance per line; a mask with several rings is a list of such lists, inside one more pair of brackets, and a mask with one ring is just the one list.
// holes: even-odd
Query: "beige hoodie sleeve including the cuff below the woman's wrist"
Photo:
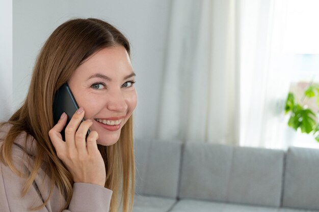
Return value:
[[(26, 167), (25, 160), (21, 157), (13, 158), (14, 166), (28, 173), (29, 169)], [(21, 196), (25, 178), (18, 176), (14, 173), (9, 166), (6, 166), (0, 162), (0, 208), (2, 212), (10, 211), (29, 211), (30, 207), (39, 206), (43, 203), (43, 199), (48, 196), (48, 188), (50, 185), (45, 183), (46, 176), (43, 176), (43, 170), (40, 170), (36, 176), (33, 186), (30, 187), (28, 193)], [(44, 183), (43, 183), (44, 182)], [(55, 187), (52, 198), (48, 201), (48, 204), (41, 207), (37, 212), (58, 212), (65, 204), (65, 201), (61, 202), (58, 188)], [(112, 191), (104, 187), (87, 184), (87, 183), (74, 183), (73, 195), (68, 209), (64, 212), (108, 212), (110, 208), (110, 202), (112, 197)], [(31, 211), (31, 210), (30, 210)]]

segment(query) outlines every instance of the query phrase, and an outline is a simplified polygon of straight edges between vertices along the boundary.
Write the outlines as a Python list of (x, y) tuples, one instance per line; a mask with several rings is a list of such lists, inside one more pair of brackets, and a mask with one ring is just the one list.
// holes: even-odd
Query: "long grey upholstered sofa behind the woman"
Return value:
[(319, 149), (136, 140), (134, 212), (319, 211)]

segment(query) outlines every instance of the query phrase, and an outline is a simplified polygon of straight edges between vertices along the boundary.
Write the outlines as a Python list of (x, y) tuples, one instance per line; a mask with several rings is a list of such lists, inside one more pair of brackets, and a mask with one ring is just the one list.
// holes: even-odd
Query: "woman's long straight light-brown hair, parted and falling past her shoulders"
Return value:
[[(1, 126), (11, 124), (12, 127), (4, 138), (0, 159), (18, 175), (24, 176), (13, 165), (11, 152), (14, 140), (20, 133), (25, 132), (37, 142), (33, 170), (26, 176), (22, 196), (32, 186), (43, 161), (47, 161), (46, 173), (50, 177), (50, 193), (42, 205), (33, 209), (45, 206), (55, 185), (66, 200), (64, 208), (68, 207), (72, 197), (72, 176), (57, 157), (48, 136), (48, 131), (54, 126), (52, 103), (55, 92), (90, 55), (103, 48), (118, 45), (125, 47), (130, 54), (128, 40), (105, 21), (88, 18), (72, 19), (63, 23), (50, 35), (37, 57), (24, 103), (8, 122), (1, 123)], [(111, 211), (117, 211), (120, 205), (124, 212), (131, 211), (135, 180), (132, 116), (123, 126), (117, 143), (112, 146), (98, 145), (98, 148), (107, 171), (105, 188), (113, 190)]]

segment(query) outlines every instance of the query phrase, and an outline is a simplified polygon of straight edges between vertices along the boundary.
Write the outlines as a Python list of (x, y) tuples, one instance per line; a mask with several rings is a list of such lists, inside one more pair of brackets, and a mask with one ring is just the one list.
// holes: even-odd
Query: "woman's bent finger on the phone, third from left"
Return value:
[(92, 126), (92, 120), (87, 119), (81, 123), (75, 133), (75, 147), (78, 150), (79, 154), (87, 154), (86, 140), (85, 137), (89, 128)]

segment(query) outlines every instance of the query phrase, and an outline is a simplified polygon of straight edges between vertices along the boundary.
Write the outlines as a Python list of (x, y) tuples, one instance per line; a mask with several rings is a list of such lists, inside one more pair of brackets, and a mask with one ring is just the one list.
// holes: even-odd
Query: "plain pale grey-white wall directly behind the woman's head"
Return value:
[(30, 0), (13, 2), (13, 105), (24, 100), (36, 55), (46, 38), (73, 17), (109, 21), (126, 35), (137, 73), (135, 136), (154, 137), (171, 0)]

